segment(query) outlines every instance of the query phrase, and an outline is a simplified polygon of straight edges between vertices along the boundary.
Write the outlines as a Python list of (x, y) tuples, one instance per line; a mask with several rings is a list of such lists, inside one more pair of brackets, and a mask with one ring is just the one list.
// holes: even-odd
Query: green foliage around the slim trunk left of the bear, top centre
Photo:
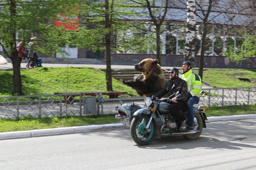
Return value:
[[(136, 5), (127, 3), (125, 0), (108, 0), (109, 9), (106, 10), (105, 1), (87, 1), (87, 3), (84, 3), (84, 0), (82, 0), (80, 2), (82, 3), (79, 4), (77, 16), (81, 18), (81, 26), (79, 27), (79, 32), (70, 34), (71, 37), (69, 38), (78, 47), (88, 47), (94, 51), (105, 51), (105, 36), (107, 34), (117, 36), (116, 41), (111, 40), (107, 43), (110, 48), (119, 52), (128, 51), (133, 48), (134, 44), (147, 42), (143, 36), (131, 38), (131, 32), (143, 31), (140, 29), (141, 23), (134, 20), (127, 21), (128, 18), (138, 18), (144, 15), (142, 11), (139, 11), (141, 10), (140, 8), (137, 8), (139, 10), (136, 11), (132, 8)], [(82, 18), (87, 18), (87, 20), (82, 20)], [(83, 25), (84, 23), (86, 23), (86, 26)]]

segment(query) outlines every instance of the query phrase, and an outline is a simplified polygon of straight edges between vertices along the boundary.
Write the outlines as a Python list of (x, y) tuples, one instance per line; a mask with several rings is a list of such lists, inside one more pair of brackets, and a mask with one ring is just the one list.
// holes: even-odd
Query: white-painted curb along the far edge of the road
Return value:
[[(217, 116), (217, 117), (208, 117), (208, 120), (206, 122), (255, 119), (255, 118), (256, 118), (256, 114), (255, 115)], [(39, 136), (51, 136), (51, 135), (60, 135), (60, 134), (82, 133), (82, 132), (103, 130), (103, 128), (104, 130), (108, 130), (110, 127), (113, 128), (118, 126), (124, 126), (124, 125), (122, 123), (113, 123), (113, 124), (103, 124), (103, 125), (76, 126), (76, 127), (69, 127), (69, 128), (4, 132), (4, 133), (0, 133), (0, 140), (24, 138), (24, 137), (39, 137)]]

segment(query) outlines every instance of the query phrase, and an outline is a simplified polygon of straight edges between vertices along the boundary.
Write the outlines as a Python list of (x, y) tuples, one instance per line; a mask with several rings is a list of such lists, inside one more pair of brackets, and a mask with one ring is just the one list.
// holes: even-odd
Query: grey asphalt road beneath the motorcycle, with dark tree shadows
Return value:
[(127, 127), (0, 141), (0, 169), (256, 169), (256, 119), (207, 122), (196, 140), (133, 142)]

